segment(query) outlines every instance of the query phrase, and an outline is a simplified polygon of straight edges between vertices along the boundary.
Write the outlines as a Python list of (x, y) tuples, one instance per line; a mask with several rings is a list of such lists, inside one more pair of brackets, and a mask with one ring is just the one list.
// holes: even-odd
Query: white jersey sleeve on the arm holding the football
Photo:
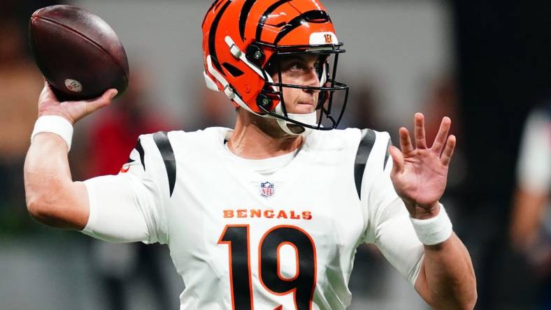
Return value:
[(118, 175), (84, 182), (90, 216), (83, 233), (108, 242), (166, 243), (164, 170), (152, 135), (141, 135)]

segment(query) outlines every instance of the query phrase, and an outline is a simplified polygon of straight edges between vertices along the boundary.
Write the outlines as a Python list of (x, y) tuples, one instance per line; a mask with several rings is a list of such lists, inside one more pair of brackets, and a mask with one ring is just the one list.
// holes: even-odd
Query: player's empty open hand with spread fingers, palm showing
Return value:
[(408, 129), (402, 127), (400, 149), (390, 147), (394, 161), (390, 174), (396, 193), (405, 202), (408, 212), (416, 219), (429, 219), (438, 214), (448, 166), (455, 149), (455, 135), (448, 136), (452, 121), (444, 117), (434, 143), (429, 148), (424, 135), (424, 116), (415, 114), (415, 148)]

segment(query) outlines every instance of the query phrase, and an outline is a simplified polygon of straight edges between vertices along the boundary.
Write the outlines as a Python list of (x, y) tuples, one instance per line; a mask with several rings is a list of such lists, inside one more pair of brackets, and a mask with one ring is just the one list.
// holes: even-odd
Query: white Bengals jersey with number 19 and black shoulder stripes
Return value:
[(364, 242), (415, 282), (423, 246), (389, 179), (388, 133), (313, 131), (271, 175), (232, 158), (229, 135), (142, 135), (119, 175), (85, 182), (83, 232), (168, 244), (186, 310), (345, 309)]

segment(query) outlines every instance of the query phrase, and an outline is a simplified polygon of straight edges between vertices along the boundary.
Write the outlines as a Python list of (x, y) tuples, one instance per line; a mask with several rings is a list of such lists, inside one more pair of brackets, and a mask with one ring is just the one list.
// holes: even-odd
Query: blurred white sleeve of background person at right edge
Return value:
[(551, 189), (551, 116), (535, 110), (524, 125), (517, 165), (519, 185), (528, 191)]

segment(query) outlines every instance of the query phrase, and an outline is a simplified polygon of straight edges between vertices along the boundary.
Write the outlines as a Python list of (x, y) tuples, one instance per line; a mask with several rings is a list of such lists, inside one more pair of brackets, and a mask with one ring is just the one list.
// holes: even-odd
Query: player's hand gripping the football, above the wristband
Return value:
[(75, 124), (86, 115), (106, 107), (117, 96), (117, 89), (108, 89), (98, 98), (85, 101), (59, 102), (48, 82), (44, 82), (44, 88), (38, 97), (38, 116), (58, 115)]

